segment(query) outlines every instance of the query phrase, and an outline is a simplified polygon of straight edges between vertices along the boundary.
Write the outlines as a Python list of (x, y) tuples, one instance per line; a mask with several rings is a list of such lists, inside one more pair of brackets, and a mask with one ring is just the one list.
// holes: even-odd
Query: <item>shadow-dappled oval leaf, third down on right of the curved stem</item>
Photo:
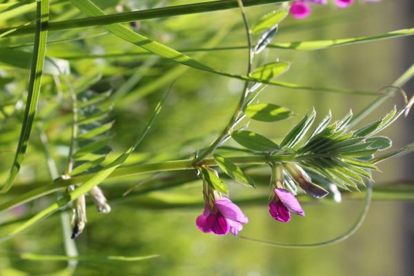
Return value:
[(280, 121), (290, 118), (293, 112), (288, 108), (276, 106), (272, 103), (257, 103), (247, 106), (244, 109), (244, 114), (257, 121)]

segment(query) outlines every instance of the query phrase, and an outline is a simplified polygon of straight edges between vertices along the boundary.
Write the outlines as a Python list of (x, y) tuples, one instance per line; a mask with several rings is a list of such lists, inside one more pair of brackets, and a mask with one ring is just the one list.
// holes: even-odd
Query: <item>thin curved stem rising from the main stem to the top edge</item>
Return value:
[[(244, 28), (246, 30), (246, 38), (247, 38), (247, 46), (248, 46), (248, 65), (247, 65), (247, 74), (250, 75), (250, 72), (252, 71), (253, 67), (253, 48), (252, 48), (252, 39), (250, 37), (250, 26), (248, 24), (248, 19), (246, 16), (246, 12), (244, 11), (244, 6), (242, 0), (237, 0), (237, 5), (239, 6), (243, 22), (244, 22)], [(227, 138), (229, 135), (231, 135), (231, 132), (233, 131), (233, 128), (235, 125), (239, 122), (239, 118), (242, 117), (242, 111), (244, 108), (244, 103), (246, 102), (246, 97), (248, 95), (248, 81), (244, 82), (244, 88), (242, 92), (242, 97), (239, 99), (239, 103), (237, 104), (237, 107), (235, 109), (235, 112), (233, 112), (233, 116), (231, 117), (230, 121), (228, 121), (228, 124), (224, 128), (223, 131), (221, 131), (219, 137), (213, 141), (210, 146), (205, 148), (203, 151), (199, 153), (197, 157), (194, 159), (194, 165), (197, 165), (202, 161), (204, 158), (206, 158), (210, 153), (212, 153), (217, 147), (219, 147)]]

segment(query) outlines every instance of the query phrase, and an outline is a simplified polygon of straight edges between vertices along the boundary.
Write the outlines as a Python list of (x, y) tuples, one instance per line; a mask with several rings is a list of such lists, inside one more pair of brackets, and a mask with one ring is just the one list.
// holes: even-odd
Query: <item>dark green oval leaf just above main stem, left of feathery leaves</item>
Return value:
[(259, 152), (272, 152), (279, 150), (279, 146), (270, 139), (247, 130), (233, 131), (231, 137), (240, 145)]

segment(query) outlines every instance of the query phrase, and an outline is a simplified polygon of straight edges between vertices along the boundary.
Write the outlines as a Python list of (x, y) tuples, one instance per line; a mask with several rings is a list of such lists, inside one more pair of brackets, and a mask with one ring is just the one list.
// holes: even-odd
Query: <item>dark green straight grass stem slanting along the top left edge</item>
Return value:
[[(244, 0), (245, 6), (258, 6), (268, 3), (282, 3), (286, 0)], [(51, 22), (49, 24), (49, 30), (68, 30), (74, 28), (85, 28), (90, 26), (102, 26), (113, 23), (124, 23), (139, 21), (144, 19), (155, 19), (162, 17), (172, 17), (184, 14), (195, 14), (201, 12), (213, 12), (217, 10), (228, 10), (237, 8), (238, 4), (236, 0), (221, 0), (221, 1), (209, 1), (203, 3), (193, 3), (180, 6), (172, 6), (166, 8), (155, 8), (150, 10), (138, 10), (135, 12), (121, 12), (117, 14), (108, 14), (105, 16), (88, 17), (82, 19), (72, 19), (66, 21)], [(0, 33), (7, 32), (8, 30), (14, 29), (4, 28), (0, 29)], [(21, 34), (31, 34), (34, 32), (34, 26), (21, 27), (18, 30), (10, 33), (8, 36), (15, 36)]]

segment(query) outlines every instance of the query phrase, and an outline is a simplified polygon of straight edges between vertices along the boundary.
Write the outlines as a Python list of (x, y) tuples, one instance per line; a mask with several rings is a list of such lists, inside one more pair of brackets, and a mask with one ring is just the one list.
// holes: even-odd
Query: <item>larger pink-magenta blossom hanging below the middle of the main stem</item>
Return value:
[(242, 224), (247, 223), (248, 218), (239, 206), (226, 197), (214, 201), (213, 208), (206, 204), (203, 213), (196, 220), (199, 230), (204, 233), (213, 232), (216, 235), (227, 235), (231, 232), (237, 236), (243, 229)]

